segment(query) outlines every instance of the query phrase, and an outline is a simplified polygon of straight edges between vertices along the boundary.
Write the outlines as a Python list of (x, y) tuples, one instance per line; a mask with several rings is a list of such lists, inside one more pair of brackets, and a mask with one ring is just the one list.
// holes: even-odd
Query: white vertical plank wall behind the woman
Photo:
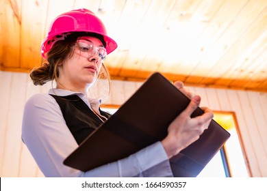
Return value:
[[(142, 83), (112, 81), (108, 104), (123, 104)], [(34, 93), (51, 87), (35, 87), (28, 74), (0, 71), (0, 177), (42, 177), (21, 141), (23, 106)], [(201, 106), (233, 111), (253, 177), (267, 177), (267, 93), (190, 87), (201, 95)]]

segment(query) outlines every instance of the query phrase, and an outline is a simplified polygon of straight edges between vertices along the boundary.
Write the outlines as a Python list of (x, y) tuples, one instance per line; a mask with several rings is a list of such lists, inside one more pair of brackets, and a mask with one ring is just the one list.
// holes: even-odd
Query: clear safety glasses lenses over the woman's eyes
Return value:
[(105, 60), (105, 57), (107, 56), (107, 51), (104, 47), (96, 47), (94, 44), (86, 40), (77, 40), (75, 47), (80, 50), (80, 55), (82, 57), (90, 58), (95, 52), (98, 53), (102, 60)]

